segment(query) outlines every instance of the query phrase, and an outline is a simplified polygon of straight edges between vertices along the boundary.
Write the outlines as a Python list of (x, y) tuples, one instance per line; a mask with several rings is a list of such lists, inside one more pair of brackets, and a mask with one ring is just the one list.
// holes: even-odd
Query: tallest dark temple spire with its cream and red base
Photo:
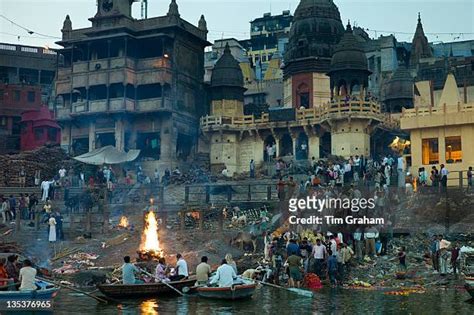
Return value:
[(284, 58), (285, 106), (311, 108), (330, 100), (326, 74), (343, 33), (341, 15), (333, 1), (300, 1)]

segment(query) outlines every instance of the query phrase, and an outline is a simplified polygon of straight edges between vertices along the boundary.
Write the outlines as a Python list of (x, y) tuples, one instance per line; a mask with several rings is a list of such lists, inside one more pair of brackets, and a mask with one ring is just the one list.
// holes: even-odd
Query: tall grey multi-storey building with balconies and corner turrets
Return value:
[(62, 28), (56, 82), (61, 145), (140, 149), (144, 167), (174, 167), (196, 151), (206, 111), (204, 17), (194, 26), (172, 0), (165, 16), (133, 19), (129, 0), (99, 0), (92, 27)]

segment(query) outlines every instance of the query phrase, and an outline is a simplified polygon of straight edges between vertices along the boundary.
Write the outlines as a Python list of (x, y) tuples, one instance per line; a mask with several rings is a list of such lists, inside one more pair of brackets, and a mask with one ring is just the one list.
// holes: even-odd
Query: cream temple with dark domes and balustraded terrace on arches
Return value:
[[(332, 1), (302, 0), (296, 9), (283, 69), (283, 107), (243, 115), (238, 62), (230, 51), (221, 57), (212, 89), (221, 80), (219, 65), (232, 69), (225, 77), (233, 89), (213, 93), (211, 113), (201, 119), (202, 142), (211, 152), (215, 171), (227, 167), (231, 173), (245, 172), (251, 160), (260, 164), (273, 157), (308, 163), (323, 152), (367, 156), (371, 134), (388, 121), (380, 104), (367, 94), (370, 71), (363, 43), (350, 25), (344, 31)], [(268, 156), (268, 146), (275, 147), (275, 156)]]

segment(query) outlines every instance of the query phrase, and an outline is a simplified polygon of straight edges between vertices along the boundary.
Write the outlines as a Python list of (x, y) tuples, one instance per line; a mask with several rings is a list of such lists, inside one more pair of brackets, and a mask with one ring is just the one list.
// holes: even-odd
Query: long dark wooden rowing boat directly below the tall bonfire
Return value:
[[(184, 287), (192, 287), (196, 279), (189, 278), (181, 281), (167, 282), (172, 287), (182, 291)], [(177, 293), (164, 283), (141, 283), (141, 284), (99, 284), (97, 285), (102, 294), (112, 298), (141, 298), (147, 296), (158, 297), (160, 295), (177, 295)]]

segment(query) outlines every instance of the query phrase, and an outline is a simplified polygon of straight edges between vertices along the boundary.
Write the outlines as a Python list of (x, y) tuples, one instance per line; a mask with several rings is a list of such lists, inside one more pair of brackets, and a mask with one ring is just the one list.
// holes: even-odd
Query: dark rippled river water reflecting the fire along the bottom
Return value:
[(474, 303), (463, 289), (432, 289), (409, 296), (381, 291), (325, 288), (314, 298), (262, 287), (252, 299), (235, 302), (194, 296), (130, 300), (101, 305), (90, 298), (61, 290), (54, 314), (474, 314)]

